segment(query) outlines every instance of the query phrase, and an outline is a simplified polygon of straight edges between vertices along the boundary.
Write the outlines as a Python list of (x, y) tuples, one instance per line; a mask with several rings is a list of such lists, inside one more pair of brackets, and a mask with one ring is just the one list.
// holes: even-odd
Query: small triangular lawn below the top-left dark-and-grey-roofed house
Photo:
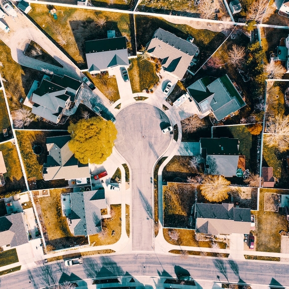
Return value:
[(116, 78), (114, 75), (109, 76), (108, 73), (106, 73), (105, 75), (97, 74), (96, 76), (92, 77), (89, 75), (89, 73), (85, 74), (111, 102), (115, 102), (120, 98)]

